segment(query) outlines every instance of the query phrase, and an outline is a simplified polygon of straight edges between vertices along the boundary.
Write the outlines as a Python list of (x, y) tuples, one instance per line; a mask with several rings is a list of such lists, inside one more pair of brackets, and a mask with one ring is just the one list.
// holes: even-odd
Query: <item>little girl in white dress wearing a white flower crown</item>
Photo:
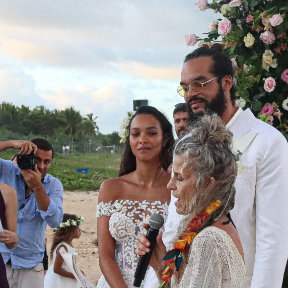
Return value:
[(59, 252), (63, 247), (68, 253), (75, 253), (72, 240), (80, 237), (81, 229), (79, 225), (81, 223), (83, 223), (83, 217), (64, 214), (60, 225), (53, 230), (54, 236), (50, 253), (50, 259), (53, 259), (53, 264), (45, 275), (44, 288), (81, 287)]

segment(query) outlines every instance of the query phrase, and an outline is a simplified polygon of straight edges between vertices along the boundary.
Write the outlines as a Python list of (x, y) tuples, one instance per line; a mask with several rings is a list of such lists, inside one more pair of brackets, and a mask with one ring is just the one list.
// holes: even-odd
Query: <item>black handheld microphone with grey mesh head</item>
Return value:
[(139, 262), (135, 271), (135, 275), (134, 275), (134, 283), (133, 285), (135, 287), (140, 287), (141, 286), (141, 282), (144, 280), (149, 262), (150, 262), (150, 258), (154, 249), (154, 245), (156, 242), (156, 237), (159, 233), (159, 229), (163, 226), (164, 224), (164, 218), (162, 215), (160, 214), (153, 214), (150, 216), (149, 219), (149, 229), (147, 231), (146, 234), (146, 238), (147, 240), (150, 242), (150, 246), (149, 249), (150, 251), (148, 253), (146, 253), (143, 256), (140, 256), (139, 258)]

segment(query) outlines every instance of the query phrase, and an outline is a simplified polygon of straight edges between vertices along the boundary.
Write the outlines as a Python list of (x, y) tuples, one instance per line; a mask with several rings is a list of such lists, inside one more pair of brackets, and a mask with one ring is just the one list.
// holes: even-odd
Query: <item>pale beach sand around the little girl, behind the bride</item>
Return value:
[[(88, 281), (97, 284), (101, 276), (99, 268), (98, 248), (91, 242), (96, 239), (96, 204), (98, 192), (69, 192), (65, 191), (63, 199), (64, 213), (84, 216), (85, 220), (80, 228), (82, 230), (79, 239), (73, 240), (75, 251), (78, 253), (77, 265), (85, 273)], [(47, 226), (47, 251), (50, 254), (53, 229)], [(49, 261), (49, 266), (51, 262)]]

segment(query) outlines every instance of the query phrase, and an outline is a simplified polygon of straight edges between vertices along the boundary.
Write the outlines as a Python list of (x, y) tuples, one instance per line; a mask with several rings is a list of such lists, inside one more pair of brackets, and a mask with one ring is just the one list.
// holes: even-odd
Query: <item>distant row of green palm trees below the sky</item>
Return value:
[(95, 152), (99, 146), (117, 146), (120, 137), (117, 132), (103, 135), (93, 113), (81, 116), (72, 106), (61, 110), (49, 110), (44, 106), (30, 109), (11, 103), (0, 103), (0, 141), (45, 138), (57, 152), (69, 144), (71, 153)]

